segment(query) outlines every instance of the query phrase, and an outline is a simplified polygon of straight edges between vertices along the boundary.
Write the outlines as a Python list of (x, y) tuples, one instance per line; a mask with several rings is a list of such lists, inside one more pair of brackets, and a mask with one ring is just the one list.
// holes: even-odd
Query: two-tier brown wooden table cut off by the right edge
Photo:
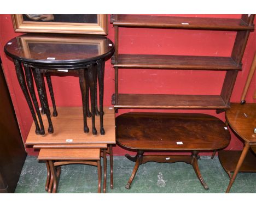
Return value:
[(230, 128), (245, 143), (242, 151), (219, 152), (220, 163), (230, 178), (226, 189), (229, 193), (238, 172), (256, 172), (256, 103), (231, 103), (225, 115)]

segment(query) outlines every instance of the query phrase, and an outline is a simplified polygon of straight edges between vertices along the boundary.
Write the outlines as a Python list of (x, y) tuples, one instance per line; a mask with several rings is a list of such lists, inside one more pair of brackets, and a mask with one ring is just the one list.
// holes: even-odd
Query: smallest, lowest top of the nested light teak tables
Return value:
[(100, 160), (100, 149), (41, 149), (38, 160)]

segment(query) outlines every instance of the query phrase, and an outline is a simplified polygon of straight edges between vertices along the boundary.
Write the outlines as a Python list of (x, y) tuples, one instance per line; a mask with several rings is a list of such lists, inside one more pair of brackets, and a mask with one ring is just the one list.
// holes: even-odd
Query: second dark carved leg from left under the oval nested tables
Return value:
[(37, 97), (36, 97), (36, 94), (34, 93), (34, 82), (33, 82), (32, 72), (27, 64), (23, 64), (23, 65), (24, 65), (24, 69), (25, 69), (25, 77), (26, 77), (26, 81), (27, 81), (27, 87), (28, 87), (28, 90), (30, 91), (31, 98), (34, 103), (34, 109), (36, 109), (37, 118), (40, 123), (40, 133), (44, 134), (44, 124), (43, 124), (43, 120), (42, 120), (39, 106), (37, 103)]

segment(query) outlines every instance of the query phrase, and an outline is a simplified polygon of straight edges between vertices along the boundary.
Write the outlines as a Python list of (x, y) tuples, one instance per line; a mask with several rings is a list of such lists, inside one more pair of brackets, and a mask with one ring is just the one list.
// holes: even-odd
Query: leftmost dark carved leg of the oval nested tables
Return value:
[(22, 90), (22, 92), (25, 96), (28, 107), (30, 108), (30, 112), (31, 112), (32, 118), (34, 120), (34, 124), (36, 125), (36, 134), (39, 134), (40, 133), (40, 128), (39, 128), (39, 125), (38, 125), (36, 113), (34, 113), (34, 108), (33, 108), (33, 105), (32, 105), (31, 99), (30, 99), (30, 95), (28, 94), (28, 90), (27, 90), (27, 87), (26, 87), (22, 65), (21, 65), (21, 63), (18, 62), (18, 60), (15, 60), (15, 59), (14, 59), (14, 64), (15, 64), (16, 75), (17, 75), (21, 90)]

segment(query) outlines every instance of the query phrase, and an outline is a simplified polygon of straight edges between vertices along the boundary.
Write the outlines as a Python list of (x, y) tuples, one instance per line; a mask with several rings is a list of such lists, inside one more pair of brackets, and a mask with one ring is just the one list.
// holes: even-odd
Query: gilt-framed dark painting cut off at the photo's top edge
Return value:
[(108, 34), (108, 15), (19, 14), (11, 17), (16, 32)]

